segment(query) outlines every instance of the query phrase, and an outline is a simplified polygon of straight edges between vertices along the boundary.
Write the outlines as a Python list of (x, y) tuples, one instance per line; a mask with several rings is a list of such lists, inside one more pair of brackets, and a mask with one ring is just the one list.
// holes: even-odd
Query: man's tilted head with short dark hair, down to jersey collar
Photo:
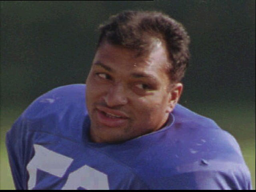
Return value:
[(120, 142), (159, 130), (180, 98), (189, 38), (159, 12), (126, 11), (100, 26), (86, 80), (94, 142)]

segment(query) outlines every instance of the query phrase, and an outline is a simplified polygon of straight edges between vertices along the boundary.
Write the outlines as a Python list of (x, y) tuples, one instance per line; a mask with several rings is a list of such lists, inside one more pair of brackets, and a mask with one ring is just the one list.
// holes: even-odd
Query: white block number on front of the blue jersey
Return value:
[[(48, 172), (61, 178), (73, 159), (54, 151), (48, 150), (43, 146), (34, 144), (35, 155), (27, 165), (29, 174), (28, 189), (36, 186), (37, 170)], [(62, 189), (109, 189), (108, 176), (90, 166), (84, 165), (78, 170), (70, 173), (68, 180)]]

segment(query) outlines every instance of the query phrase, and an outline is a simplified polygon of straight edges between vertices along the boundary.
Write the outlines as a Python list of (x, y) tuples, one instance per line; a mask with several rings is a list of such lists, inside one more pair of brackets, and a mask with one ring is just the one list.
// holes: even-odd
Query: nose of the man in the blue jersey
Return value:
[(121, 83), (112, 85), (104, 96), (104, 100), (110, 107), (125, 105), (128, 100), (124, 86)]

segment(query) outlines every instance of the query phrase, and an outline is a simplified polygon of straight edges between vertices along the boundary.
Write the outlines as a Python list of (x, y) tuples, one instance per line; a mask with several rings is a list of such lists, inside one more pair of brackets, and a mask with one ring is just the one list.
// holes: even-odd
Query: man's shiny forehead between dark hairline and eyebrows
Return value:
[(97, 62), (122, 70), (158, 70), (166, 73), (168, 68), (166, 49), (160, 43), (156, 44), (149, 54), (142, 56), (124, 46), (104, 43), (94, 56), (93, 64)]

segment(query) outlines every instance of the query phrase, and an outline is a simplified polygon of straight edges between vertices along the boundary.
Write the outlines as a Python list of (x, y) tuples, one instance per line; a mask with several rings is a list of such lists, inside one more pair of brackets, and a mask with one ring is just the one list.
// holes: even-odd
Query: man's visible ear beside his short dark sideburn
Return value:
[(176, 83), (172, 85), (172, 89), (170, 90), (169, 100), (168, 100), (168, 112), (172, 112), (176, 104), (178, 103), (180, 96), (182, 94), (183, 84)]

